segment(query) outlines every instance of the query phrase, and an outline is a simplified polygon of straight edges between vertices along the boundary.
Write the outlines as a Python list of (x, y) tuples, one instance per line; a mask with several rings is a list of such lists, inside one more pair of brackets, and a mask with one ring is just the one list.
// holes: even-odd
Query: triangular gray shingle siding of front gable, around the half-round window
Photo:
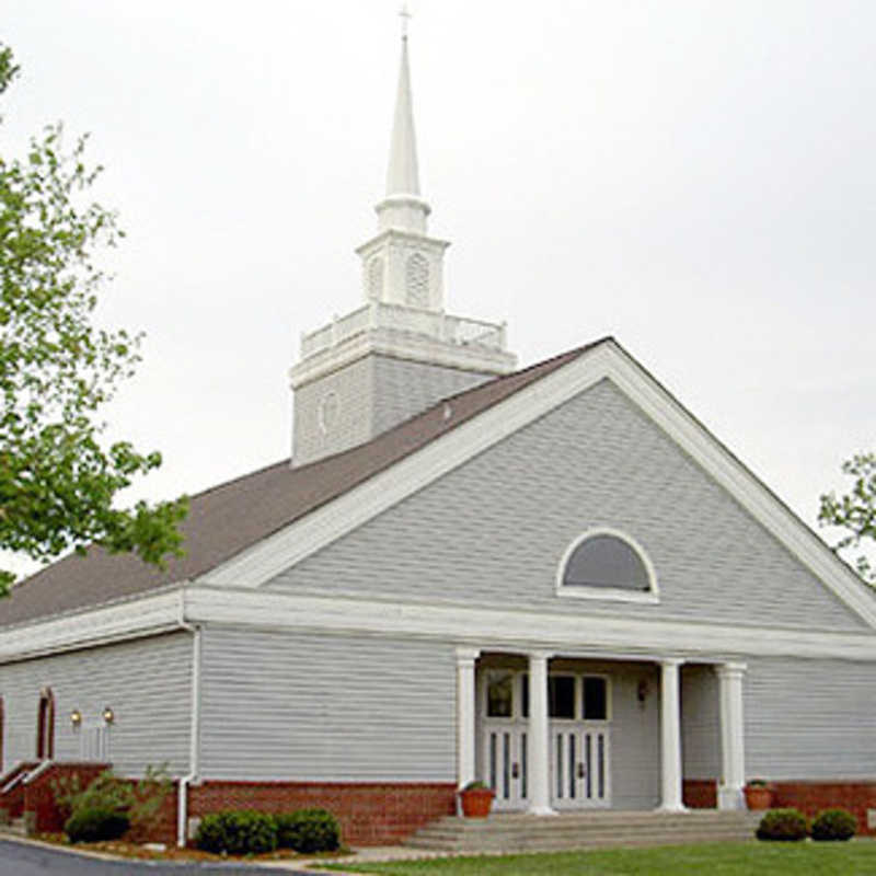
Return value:
[[(643, 545), (659, 580), (659, 606), (556, 597), (564, 551), (597, 526)], [(609, 381), (267, 586), (564, 614), (865, 629)]]

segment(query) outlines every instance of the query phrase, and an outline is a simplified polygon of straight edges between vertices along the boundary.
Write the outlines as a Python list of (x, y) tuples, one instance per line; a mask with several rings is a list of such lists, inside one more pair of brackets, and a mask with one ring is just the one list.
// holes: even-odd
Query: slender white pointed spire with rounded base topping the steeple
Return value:
[(379, 229), (394, 228), (415, 234), (426, 233), (429, 205), (419, 194), (419, 165), (414, 132), (414, 102), (411, 96), (411, 68), (407, 60), (407, 22), (411, 13), (402, 7), (402, 61), (395, 92), (395, 115), (392, 122), (390, 163), (387, 168), (385, 197), (374, 208)]

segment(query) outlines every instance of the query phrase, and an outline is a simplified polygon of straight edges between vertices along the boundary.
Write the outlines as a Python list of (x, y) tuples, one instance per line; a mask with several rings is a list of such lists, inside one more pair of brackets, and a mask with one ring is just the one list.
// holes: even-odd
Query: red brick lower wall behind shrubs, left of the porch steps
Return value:
[(456, 812), (456, 786), (431, 783), (221, 782), (188, 789), (189, 817), (219, 809), (289, 812), (321, 806), (351, 845), (397, 843), (436, 818)]

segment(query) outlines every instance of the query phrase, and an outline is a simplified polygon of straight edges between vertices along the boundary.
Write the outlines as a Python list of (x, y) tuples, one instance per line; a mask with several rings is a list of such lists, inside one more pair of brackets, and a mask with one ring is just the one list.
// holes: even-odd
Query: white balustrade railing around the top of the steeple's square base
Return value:
[(335, 316), (327, 325), (314, 332), (302, 334), (301, 357), (306, 358), (323, 349), (330, 349), (369, 327), (412, 332), (460, 346), (475, 345), (494, 350), (505, 349), (505, 323), (469, 320), (403, 304), (371, 301), (346, 316)]

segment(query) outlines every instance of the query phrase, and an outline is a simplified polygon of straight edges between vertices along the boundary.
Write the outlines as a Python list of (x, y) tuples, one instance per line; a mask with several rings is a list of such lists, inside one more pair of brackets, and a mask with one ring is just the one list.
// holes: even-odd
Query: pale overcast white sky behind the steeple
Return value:
[[(2, 149), (92, 135), (137, 496), (289, 453), (302, 331), (357, 307), (396, 0), (3, 0)], [(448, 309), (521, 365), (613, 334), (805, 520), (876, 449), (876, 3), (414, 0)]]

